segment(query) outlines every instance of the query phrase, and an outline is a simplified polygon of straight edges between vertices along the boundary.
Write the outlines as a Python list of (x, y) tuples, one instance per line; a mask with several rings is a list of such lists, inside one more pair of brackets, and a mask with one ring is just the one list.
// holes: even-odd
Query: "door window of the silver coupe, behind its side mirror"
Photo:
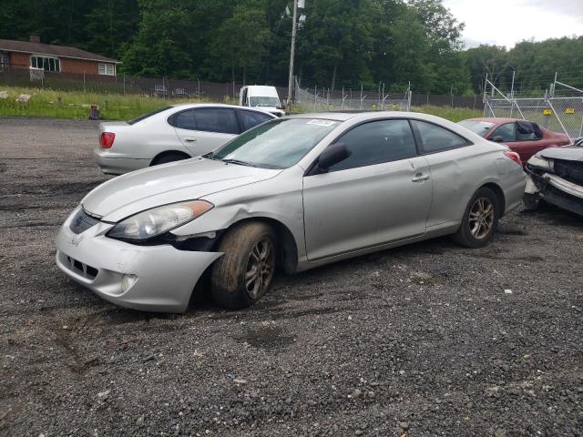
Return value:
[(407, 120), (380, 120), (354, 127), (338, 138), (352, 153), (330, 168), (345, 170), (412, 158), (417, 154), (413, 132)]

